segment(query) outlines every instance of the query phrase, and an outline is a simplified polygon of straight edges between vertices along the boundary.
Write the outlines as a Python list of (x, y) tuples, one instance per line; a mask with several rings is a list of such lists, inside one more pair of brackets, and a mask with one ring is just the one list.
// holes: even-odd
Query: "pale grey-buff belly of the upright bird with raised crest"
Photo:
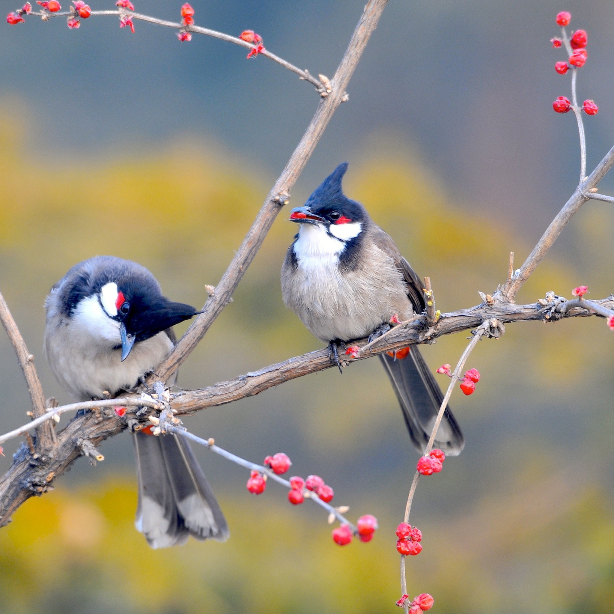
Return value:
[(413, 313), (396, 270), (341, 272), (339, 267), (308, 270), (298, 266), (282, 288), (284, 301), (322, 341), (367, 336), (397, 313)]

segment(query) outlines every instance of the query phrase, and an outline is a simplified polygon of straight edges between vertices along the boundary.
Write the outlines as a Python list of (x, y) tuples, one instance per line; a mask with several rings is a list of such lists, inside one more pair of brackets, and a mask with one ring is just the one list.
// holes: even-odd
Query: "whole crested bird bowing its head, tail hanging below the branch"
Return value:
[[(173, 325), (196, 309), (164, 297), (144, 266), (96, 256), (73, 266), (45, 301), (44, 354), (77, 400), (130, 390), (176, 344)], [(152, 548), (189, 535), (228, 538), (228, 524), (192, 448), (181, 435), (133, 433), (138, 477), (136, 528)]]

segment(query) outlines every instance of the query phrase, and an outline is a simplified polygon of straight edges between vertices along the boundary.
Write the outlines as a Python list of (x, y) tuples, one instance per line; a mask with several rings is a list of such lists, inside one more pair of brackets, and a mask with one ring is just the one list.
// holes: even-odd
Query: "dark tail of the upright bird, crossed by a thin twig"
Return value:
[[(397, 353), (396, 359), (387, 354), (381, 354), (380, 358), (397, 393), (411, 441), (423, 453), (443, 402), (443, 394), (418, 347), (407, 349), (409, 352), (403, 358), (403, 351)], [(435, 447), (449, 456), (456, 456), (464, 445), (465, 438), (448, 405), (435, 435)]]

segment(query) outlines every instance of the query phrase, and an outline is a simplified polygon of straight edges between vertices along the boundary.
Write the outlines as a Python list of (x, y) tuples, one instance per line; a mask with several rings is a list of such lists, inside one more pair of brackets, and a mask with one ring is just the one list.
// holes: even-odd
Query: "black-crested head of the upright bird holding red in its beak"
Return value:
[(347, 162), (337, 166), (309, 196), (304, 206), (290, 211), (290, 221), (319, 226), (328, 235), (343, 242), (356, 239), (364, 230), (369, 216), (362, 204), (343, 193), (341, 180), (347, 169)]

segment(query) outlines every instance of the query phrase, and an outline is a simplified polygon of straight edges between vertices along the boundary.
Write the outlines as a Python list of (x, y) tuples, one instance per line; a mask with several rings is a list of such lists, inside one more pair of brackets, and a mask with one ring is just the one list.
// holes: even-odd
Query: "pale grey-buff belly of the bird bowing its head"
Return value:
[(102, 397), (103, 391), (115, 394), (130, 389), (140, 376), (154, 370), (173, 348), (168, 335), (161, 332), (134, 344), (130, 355), (122, 362), (120, 349), (95, 352), (91, 346), (71, 344), (69, 335), (60, 337), (64, 338), (46, 340), (50, 367), (66, 390), (82, 400)]

